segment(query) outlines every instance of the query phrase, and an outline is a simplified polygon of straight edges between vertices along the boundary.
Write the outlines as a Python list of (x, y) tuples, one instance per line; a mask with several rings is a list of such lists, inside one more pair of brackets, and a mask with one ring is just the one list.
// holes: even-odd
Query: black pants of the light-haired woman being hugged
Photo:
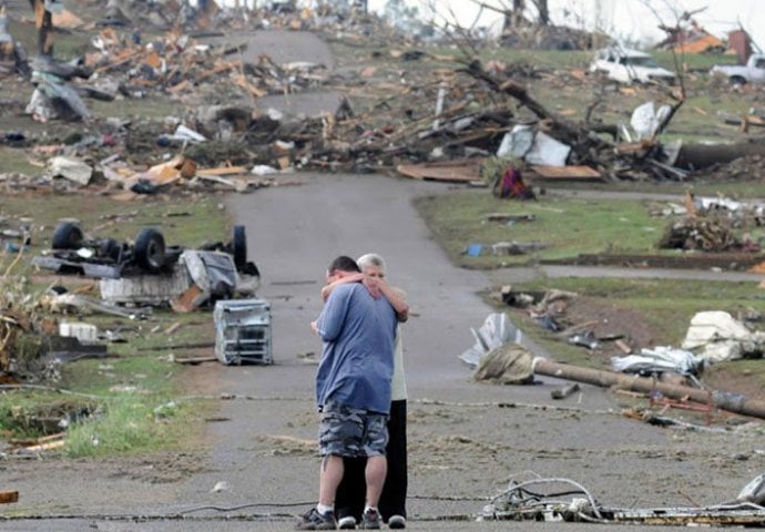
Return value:
[[(384, 521), (391, 515), (407, 516), (407, 401), (390, 402), (388, 419), (388, 447), (385, 449), (388, 459), (388, 474), (385, 478), (382, 494), (378, 505)], [(366, 458), (344, 459), (345, 473), (335, 495), (335, 513), (339, 518), (353, 515), (361, 521), (367, 482), (364, 470)]]

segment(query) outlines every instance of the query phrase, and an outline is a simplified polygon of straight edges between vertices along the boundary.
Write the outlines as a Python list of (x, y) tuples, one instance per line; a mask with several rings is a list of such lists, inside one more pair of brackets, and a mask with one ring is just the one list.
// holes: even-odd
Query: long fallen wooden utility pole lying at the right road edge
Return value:
[(569, 366), (544, 358), (536, 358), (532, 369), (537, 375), (547, 375), (603, 388), (615, 387), (622, 390), (642, 391), (645, 393), (660, 391), (671, 399), (690, 399), (694, 402), (712, 405), (722, 410), (742, 416), (765, 419), (765, 401), (746, 399), (746, 397), (735, 392), (700, 390), (698, 388), (690, 388), (687, 386), (667, 385), (646, 377)]

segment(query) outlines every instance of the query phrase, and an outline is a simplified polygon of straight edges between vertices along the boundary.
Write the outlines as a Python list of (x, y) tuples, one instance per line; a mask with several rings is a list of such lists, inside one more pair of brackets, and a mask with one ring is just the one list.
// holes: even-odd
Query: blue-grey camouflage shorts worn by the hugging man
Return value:
[(319, 454), (377, 457), (388, 444), (388, 416), (328, 402), (319, 421)]

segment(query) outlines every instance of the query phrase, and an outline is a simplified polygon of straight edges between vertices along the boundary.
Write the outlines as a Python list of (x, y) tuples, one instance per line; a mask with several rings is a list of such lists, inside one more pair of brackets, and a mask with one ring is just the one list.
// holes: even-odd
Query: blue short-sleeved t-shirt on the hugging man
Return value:
[(316, 402), (334, 401), (374, 412), (390, 411), (396, 311), (360, 283), (338, 285), (317, 320), (324, 350)]

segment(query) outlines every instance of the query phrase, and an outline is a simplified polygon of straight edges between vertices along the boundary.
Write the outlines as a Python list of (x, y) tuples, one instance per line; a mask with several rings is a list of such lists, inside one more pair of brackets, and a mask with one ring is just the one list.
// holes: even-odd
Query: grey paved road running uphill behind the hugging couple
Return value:
[[(410, 529), (593, 530), (463, 521), (531, 472), (580, 482), (604, 504), (653, 508), (730, 500), (765, 468), (762, 433), (649, 426), (620, 416), (615, 395), (589, 386), (558, 403), (550, 390), (560, 382), (549, 378), (529, 387), (471, 382), (458, 356), (473, 344), (470, 328), (492, 311), (477, 293), (493, 280), (451, 266), (417, 217), (412, 197), (445, 187), (379, 175), (285, 177), (296, 180), (227, 201), (262, 269), (259, 296), (273, 305), (275, 364), (202, 369), (213, 379), (206, 392), (231, 399), (212, 416), (200, 471), (156, 482), (134, 462), (123, 471), (75, 462), (45, 468), (39, 479), (33, 464), (0, 464), (0, 489), (7, 482), (22, 493), (10, 514), (41, 518), (0, 521), (0, 530), (292, 530), (316, 499), (316, 366), (305, 360), (320, 346), (308, 323), (322, 307), (324, 269), (339, 253), (382, 254), (412, 305), (404, 329)], [(225, 489), (214, 490), (220, 482)]]

